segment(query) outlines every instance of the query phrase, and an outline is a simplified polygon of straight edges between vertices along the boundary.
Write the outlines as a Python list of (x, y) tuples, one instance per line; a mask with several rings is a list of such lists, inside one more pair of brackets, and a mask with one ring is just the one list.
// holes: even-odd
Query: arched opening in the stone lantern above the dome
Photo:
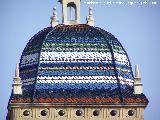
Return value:
[(76, 16), (76, 5), (73, 2), (70, 2), (67, 4), (67, 19), (68, 20), (76, 20), (77, 16)]

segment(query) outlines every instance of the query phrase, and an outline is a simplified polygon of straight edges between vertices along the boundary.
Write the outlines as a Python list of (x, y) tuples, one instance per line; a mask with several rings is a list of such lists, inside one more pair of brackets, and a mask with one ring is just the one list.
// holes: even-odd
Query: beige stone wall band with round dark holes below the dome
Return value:
[(143, 120), (143, 107), (14, 107), (10, 120)]

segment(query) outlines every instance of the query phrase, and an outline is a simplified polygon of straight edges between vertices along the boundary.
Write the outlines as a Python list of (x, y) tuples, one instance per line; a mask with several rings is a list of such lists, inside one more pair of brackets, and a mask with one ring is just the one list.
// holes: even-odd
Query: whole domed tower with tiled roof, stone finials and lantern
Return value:
[(148, 99), (118, 39), (95, 27), (92, 8), (59, 0), (51, 26), (35, 34), (16, 67), (7, 120), (144, 120)]

